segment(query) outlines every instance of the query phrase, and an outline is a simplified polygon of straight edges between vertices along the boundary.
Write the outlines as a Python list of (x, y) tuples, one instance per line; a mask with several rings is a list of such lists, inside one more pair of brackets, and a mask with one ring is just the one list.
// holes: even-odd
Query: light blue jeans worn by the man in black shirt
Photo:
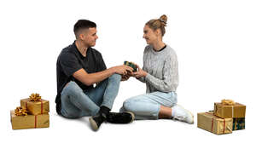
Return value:
[(77, 118), (94, 116), (100, 106), (112, 109), (113, 101), (119, 92), (121, 76), (113, 74), (99, 83), (95, 89), (83, 90), (73, 81), (61, 92), (61, 114), (64, 117)]

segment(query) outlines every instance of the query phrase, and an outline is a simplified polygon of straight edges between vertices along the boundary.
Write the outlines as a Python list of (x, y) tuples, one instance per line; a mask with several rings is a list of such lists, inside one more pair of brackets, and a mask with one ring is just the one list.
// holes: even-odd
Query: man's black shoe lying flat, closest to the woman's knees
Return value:
[(109, 112), (107, 114), (108, 123), (131, 123), (133, 120), (132, 112)]

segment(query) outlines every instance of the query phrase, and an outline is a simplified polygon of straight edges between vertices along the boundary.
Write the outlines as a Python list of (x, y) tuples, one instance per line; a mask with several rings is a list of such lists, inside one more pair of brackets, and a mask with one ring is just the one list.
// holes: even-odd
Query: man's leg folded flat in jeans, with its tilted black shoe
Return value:
[[(99, 129), (101, 124), (106, 121), (107, 114), (110, 111), (107, 107), (96, 105), (102, 100), (98, 95), (101, 90), (84, 92), (77, 83), (68, 83), (61, 93), (61, 114), (70, 118), (94, 116), (93, 120), (90, 118), (91, 128), (93, 130)], [(90, 96), (88, 93), (90, 93)]]

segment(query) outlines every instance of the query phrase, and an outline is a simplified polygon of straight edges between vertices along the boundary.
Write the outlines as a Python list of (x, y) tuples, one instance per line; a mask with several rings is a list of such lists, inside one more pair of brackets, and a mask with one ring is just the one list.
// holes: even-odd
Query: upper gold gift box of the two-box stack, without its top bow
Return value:
[(31, 101), (29, 98), (20, 100), (20, 106), (26, 107), (27, 111), (32, 115), (39, 115), (49, 112), (49, 101), (40, 99)]

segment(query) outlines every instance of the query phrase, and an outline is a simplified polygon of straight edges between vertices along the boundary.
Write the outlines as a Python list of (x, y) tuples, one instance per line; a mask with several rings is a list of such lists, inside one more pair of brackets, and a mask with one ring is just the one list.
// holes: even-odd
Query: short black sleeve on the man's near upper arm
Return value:
[(74, 72), (77, 72), (82, 68), (75, 54), (71, 53), (61, 54), (60, 64), (63, 72), (67, 75), (67, 77), (72, 76)]

